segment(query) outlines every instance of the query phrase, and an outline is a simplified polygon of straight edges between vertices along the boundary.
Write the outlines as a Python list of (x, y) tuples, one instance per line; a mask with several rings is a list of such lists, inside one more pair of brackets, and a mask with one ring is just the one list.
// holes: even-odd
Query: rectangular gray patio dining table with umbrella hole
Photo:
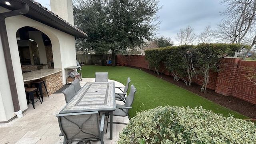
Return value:
[(112, 140), (115, 99), (114, 82), (87, 82), (59, 113), (110, 112), (110, 140)]

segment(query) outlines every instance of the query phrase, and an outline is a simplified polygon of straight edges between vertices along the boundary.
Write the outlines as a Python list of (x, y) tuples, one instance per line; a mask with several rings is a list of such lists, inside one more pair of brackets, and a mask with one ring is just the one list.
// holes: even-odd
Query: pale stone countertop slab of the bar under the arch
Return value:
[(41, 70), (34, 70), (31, 72), (23, 73), (23, 81), (31, 81), (31, 80), (38, 80), (40, 78), (44, 78), (46, 76), (50, 76), (52, 74), (55, 74), (57, 72), (61, 72), (62, 69), (52, 69), (52, 68), (46, 68)]

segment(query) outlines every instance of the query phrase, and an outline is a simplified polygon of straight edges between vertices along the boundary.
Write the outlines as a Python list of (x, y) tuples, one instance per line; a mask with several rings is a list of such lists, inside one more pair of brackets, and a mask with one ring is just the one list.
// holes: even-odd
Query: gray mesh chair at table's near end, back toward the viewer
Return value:
[(104, 113), (100, 122), (97, 111), (57, 114), (56, 117), (61, 131), (59, 136), (64, 136), (63, 144), (69, 142), (78, 142), (79, 144), (80, 142), (84, 144), (88, 142), (91, 144), (90, 141), (98, 140), (104, 144)]

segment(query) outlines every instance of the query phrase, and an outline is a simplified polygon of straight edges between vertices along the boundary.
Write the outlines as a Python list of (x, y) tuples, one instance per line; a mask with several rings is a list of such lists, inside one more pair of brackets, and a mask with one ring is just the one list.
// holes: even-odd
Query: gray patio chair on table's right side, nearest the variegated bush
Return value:
[[(132, 103), (134, 101), (134, 96), (135, 96), (135, 92), (136, 92), (136, 88), (135, 86), (132, 84), (131, 85), (131, 88), (130, 88), (130, 92), (128, 94), (127, 97), (123, 97), (122, 98), (125, 98), (126, 101), (125, 101), (125, 104), (123, 105), (120, 105), (120, 104), (116, 104), (116, 110), (113, 111), (113, 116), (128, 116), (129, 120), (130, 120), (130, 116), (128, 114), (129, 110), (132, 108)], [(109, 116), (109, 112), (106, 113), (106, 116)], [(107, 128), (106, 128), (106, 132), (107, 132), (107, 129), (108, 129), (108, 118), (107, 118)], [(113, 122), (113, 124), (127, 124), (127, 123), (124, 123), (124, 122)]]

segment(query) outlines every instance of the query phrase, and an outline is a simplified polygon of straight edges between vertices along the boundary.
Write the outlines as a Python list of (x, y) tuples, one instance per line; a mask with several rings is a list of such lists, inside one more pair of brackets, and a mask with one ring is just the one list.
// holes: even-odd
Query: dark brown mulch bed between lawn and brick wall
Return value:
[(186, 86), (186, 84), (182, 81), (174, 81), (174, 78), (172, 76), (168, 76), (165, 74), (156, 74), (154, 71), (150, 71), (146, 68), (139, 68), (134, 66), (129, 66), (132, 68), (137, 68), (140, 70), (143, 70), (144, 72), (147, 72), (149, 74), (152, 74), (158, 78), (162, 78), (163, 80), (166, 80), (172, 84), (175, 84), (176, 86), (180, 86), (181, 88), (184, 88), (186, 90), (189, 90), (190, 92), (193, 92), (195, 94), (198, 94), (199, 96), (202, 96), (203, 98), (206, 98), (208, 100), (211, 100), (212, 102), (215, 102), (217, 104), (220, 104), (226, 108), (229, 108), (231, 110), (234, 110), (240, 114), (243, 114), (244, 116), (248, 116), (249, 118), (256, 119), (256, 104), (252, 104), (250, 102), (246, 102), (244, 100), (241, 100), (239, 98), (235, 98), (232, 96), (224, 96), (222, 94), (218, 94), (214, 92), (214, 90), (207, 89), (205, 93), (200, 92), (201, 86), (197, 84), (192, 84), (191, 86)]

